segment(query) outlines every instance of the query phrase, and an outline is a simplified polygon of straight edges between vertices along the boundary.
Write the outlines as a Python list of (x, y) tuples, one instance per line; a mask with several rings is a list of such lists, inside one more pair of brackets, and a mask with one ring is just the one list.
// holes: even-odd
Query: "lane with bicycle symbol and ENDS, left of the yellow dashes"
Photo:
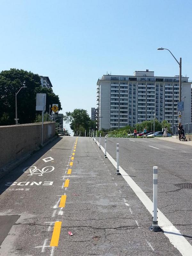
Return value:
[(53, 255), (76, 144), (60, 138), (1, 179), (0, 255)]

